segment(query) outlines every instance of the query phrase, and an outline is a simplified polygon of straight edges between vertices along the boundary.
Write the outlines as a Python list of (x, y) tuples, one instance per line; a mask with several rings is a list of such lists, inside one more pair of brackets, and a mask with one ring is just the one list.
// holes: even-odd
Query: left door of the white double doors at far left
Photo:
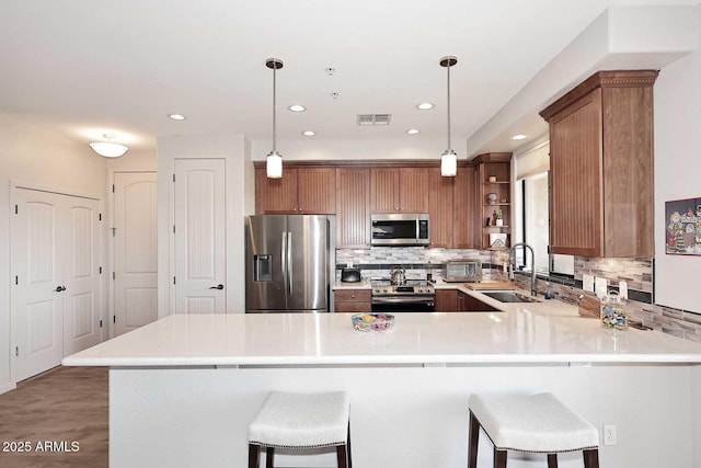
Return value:
[(18, 189), (11, 222), (13, 381), (60, 364), (64, 357), (61, 226), (64, 201)]

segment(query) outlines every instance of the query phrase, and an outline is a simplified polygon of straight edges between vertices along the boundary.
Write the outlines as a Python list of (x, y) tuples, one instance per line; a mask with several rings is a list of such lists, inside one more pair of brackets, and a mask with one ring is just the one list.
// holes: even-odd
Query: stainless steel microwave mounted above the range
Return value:
[(372, 246), (428, 246), (427, 213), (371, 215)]

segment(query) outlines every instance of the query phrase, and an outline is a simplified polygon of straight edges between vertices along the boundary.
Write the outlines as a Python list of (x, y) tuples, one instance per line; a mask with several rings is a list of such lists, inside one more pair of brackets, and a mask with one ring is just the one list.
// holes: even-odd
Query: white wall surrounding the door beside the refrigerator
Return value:
[(186, 135), (158, 138), (158, 316), (171, 313), (171, 265), (173, 252), (173, 184), (176, 159), (223, 158), (227, 173), (227, 311), (243, 312), (245, 308), (244, 216), (246, 206), (246, 174), (252, 165), (246, 161), (249, 150), (241, 135)]

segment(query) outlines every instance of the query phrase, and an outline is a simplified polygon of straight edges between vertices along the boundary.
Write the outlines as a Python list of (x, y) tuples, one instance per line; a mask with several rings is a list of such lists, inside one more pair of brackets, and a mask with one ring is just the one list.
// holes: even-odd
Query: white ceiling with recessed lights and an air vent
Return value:
[[(452, 147), (462, 148), (608, 5), (697, 2), (0, 0), (0, 113), (79, 141), (116, 134), (133, 150), (164, 135), (269, 140), (265, 59), (278, 57), (278, 140), (307, 138), (304, 129), (315, 139), (440, 139), (438, 61), (455, 55)], [(423, 101), (436, 109), (416, 110)], [(287, 111), (292, 103), (308, 111)], [(169, 119), (174, 112), (187, 119)], [(391, 125), (358, 127), (360, 113), (390, 113)], [(422, 133), (409, 137), (410, 127)]]

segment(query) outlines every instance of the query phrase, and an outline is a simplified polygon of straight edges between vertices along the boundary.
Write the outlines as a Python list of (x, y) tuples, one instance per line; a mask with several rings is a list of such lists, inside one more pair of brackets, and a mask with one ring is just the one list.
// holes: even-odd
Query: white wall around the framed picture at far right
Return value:
[[(701, 23), (701, 5), (697, 7)], [(699, 37), (701, 41), (701, 37)], [(665, 201), (701, 197), (701, 52), (655, 83), (655, 303), (701, 313), (701, 256), (665, 253)]]

